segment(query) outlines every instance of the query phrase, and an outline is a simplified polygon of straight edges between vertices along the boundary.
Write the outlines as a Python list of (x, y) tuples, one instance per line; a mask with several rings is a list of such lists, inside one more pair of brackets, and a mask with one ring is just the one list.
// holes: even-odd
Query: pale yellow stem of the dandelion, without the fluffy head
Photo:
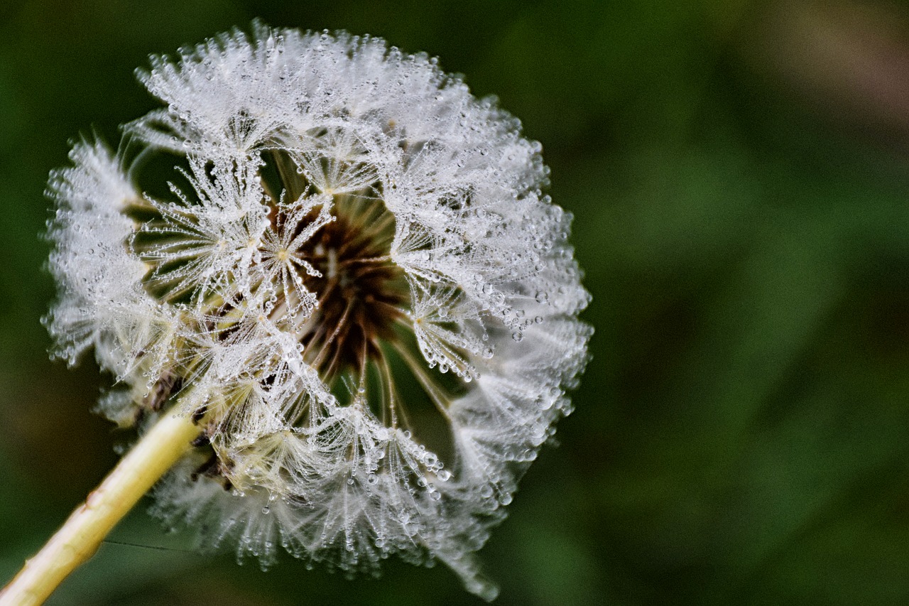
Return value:
[(41, 604), (87, 561), (116, 523), (190, 448), (199, 434), (191, 415), (165, 414), (89, 493), (25, 567), (0, 591), (0, 606)]

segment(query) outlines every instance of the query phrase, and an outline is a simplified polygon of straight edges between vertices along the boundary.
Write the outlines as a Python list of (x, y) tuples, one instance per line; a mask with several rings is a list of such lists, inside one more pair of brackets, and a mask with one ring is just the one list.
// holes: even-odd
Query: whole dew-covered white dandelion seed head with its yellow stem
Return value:
[(140, 438), (5, 596), (43, 600), (155, 484), (200, 546), (443, 561), (493, 599), (474, 552), (592, 332), (539, 144), (368, 36), (257, 24), (139, 79), (166, 107), (52, 174), (47, 326)]

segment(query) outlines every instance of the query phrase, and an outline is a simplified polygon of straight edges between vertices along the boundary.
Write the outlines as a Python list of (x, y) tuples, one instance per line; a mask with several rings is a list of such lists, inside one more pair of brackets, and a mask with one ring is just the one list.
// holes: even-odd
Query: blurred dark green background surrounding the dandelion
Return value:
[[(884, 0), (4, 3), (2, 580), (116, 460), (105, 379), (45, 355), (47, 172), (156, 106), (148, 54), (255, 16), (439, 56), (576, 217), (594, 359), (481, 552), (498, 604), (909, 601), (909, 10)], [(478, 603), (443, 566), (196, 555), (145, 507), (110, 539), (50, 603)]]

